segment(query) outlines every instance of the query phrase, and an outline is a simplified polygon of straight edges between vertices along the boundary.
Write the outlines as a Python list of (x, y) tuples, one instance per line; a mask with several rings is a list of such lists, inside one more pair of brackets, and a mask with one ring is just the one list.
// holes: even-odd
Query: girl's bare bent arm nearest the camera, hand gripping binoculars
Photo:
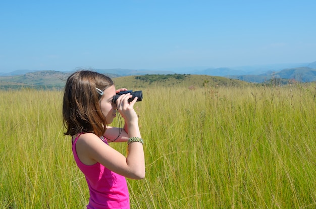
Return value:
[[(123, 94), (117, 99), (119, 113), (125, 120), (128, 134), (124, 137), (141, 137), (138, 127), (138, 117), (133, 109), (137, 97), (131, 102), (127, 100), (132, 96)], [(111, 130), (111, 129), (110, 129)], [(112, 129), (113, 131), (115, 129)], [(122, 140), (125, 139), (122, 137)], [(131, 179), (142, 179), (145, 177), (145, 158), (143, 145), (140, 142), (132, 142), (128, 145), (128, 155), (123, 154), (102, 142), (95, 134), (86, 133), (79, 136), (76, 150), (80, 161), (86, 165), (99, 162), (117, 174)]]

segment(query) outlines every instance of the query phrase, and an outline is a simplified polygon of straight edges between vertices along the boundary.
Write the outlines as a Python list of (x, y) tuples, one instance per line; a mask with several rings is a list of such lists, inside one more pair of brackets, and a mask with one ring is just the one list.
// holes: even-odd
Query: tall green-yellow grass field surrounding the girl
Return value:
[[(316, 207), (315, 86), (142, 90), (146, 178), (128, 179), (131, 208)], [(87, 204), (62, 93), (0, 91), (1, 208)]]

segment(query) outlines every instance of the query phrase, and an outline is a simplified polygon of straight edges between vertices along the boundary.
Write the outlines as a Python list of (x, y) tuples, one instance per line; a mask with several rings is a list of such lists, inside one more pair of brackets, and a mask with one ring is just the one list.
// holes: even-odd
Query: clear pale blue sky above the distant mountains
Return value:
[(316, 61), (316, 1), (2, 1), (0, 72)]

